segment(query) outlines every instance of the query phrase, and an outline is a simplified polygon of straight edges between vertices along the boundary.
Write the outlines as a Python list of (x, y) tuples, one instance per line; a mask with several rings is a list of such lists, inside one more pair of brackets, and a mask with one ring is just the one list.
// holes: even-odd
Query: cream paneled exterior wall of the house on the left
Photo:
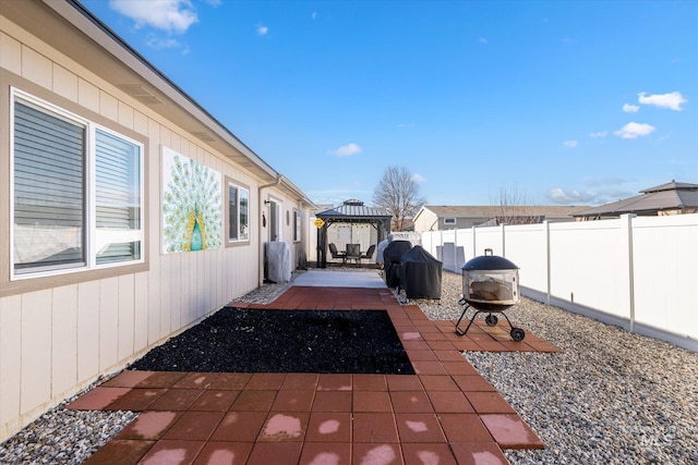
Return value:
[[(262, 198), (293, 215), (304, 207), (265, 187), (225, 154), (197, 140), (49, 44), (0, 15), (0, 441), (48, 408), (113, 374), (260, 283)], [(10, 280), (10, 86), (97, 121), (144, 147), (142, 264), (47, 278)], [(167, 147), (249, 186), (250, 241), (190, 253), (161, 250), (161, 152)], [(222, 195), (222, 193), (221, 193)], [(224, 206), (225, 210), (225, 206)], [(225, 215), (224, 215), (225, 218)], [(293, 222), (281, 221), (293, 241)], [(293, 258), (296, 260), (296, 257)], [(294, 267), (293, 267), (294, 268)]]

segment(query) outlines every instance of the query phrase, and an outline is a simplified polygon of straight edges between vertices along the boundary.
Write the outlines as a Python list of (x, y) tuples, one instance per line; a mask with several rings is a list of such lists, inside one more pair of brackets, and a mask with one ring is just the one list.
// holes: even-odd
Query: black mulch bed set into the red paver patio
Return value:
[(153, 348), (130, 368), (414, 374), (390, 318), (381, 310), (224, 308)]

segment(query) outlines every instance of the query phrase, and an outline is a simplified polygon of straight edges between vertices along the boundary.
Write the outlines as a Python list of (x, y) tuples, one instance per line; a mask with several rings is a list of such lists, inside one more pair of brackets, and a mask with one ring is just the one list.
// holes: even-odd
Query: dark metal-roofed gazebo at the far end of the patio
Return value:
[(390, 220), (393, 219), (393, 216), (383, 208), (366, 207), (363, 201), (354, 198), (345, 200), (338, 207), (321, 211), (315, 217), (323, 222), (317, 228), (317, 268), (327, 267), (327, 229), (333, 224), (370, 224), (377, 232), (377, 242), (381, 242), (390, 233)]

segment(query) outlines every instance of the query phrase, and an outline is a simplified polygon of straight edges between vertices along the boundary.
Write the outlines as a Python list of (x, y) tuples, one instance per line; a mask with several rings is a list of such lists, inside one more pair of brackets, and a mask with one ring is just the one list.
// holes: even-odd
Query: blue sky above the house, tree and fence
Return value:
[(318, 204), (698, 184), (697, 1), (82, 2)]

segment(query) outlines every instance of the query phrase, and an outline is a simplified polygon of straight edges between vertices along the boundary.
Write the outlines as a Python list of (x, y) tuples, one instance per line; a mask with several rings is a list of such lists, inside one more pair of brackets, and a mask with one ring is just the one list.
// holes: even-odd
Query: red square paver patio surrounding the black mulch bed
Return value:
[(530, 332), (517, 343), (476, 322), (459, 336), (387, 289), (292, 286), (231, 306), (386, 310), (416, 375), (124, 370), (69, 405), (143, 412), (86, 464), (506, 464), (502, 449), (544, 446), (460, 354), (557, 351)]

